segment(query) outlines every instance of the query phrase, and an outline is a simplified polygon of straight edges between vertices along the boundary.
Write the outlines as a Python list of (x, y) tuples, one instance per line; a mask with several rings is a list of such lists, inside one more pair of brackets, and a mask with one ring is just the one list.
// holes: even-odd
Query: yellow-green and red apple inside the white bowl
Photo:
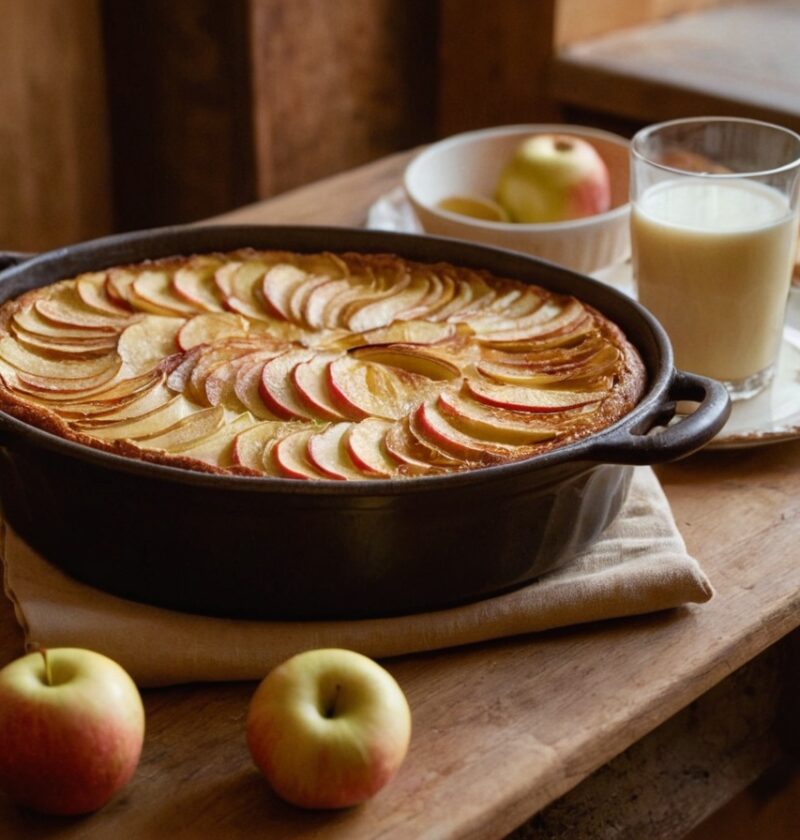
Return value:
[(515, 222), (562, 222), (611, 206), (608, 167), (580, 137), (536, 134), (503, 167), (495, 195)]

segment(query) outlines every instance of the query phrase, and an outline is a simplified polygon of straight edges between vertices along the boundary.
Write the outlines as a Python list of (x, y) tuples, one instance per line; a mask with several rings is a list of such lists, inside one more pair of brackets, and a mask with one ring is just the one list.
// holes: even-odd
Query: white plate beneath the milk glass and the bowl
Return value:
[[(422, 228), (402, 187), (381, 196), (370, 208), (367, 227), (419, 233)], [(633, 296), (630, 263), (593, 275)], [(800, 288), (792, 287), (778, 366), (772, 384), (749, 400), (733, 404), (722, 431), (709, 449), (740, 449), (800, 438)]]

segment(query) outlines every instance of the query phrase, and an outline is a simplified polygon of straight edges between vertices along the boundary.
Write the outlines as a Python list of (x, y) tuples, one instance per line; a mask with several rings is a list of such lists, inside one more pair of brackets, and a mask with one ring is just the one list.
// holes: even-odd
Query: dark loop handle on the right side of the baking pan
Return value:
[[(682, 401), (698, 403), (697, 408), (670, 423)], [(676, 370), (663, 402), (644, 417), (634, 412), (607, 439), (598, 438), (587, 454), (592, 460), (612, 464), (674, 461), (708, 443), (725, 425), (730, 411), (730, 397), (721, 382)]]

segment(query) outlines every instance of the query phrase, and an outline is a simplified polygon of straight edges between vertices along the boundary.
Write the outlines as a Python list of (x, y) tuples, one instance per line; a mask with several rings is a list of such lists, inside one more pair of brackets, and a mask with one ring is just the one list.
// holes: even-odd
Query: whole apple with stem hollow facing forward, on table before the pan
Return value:
[(253, 760), (280, 797), (303, 808), (347, 808), (394, 776), (408, 749), (411, 712), (374, 660), (311, 650), (265, 677), (246, 732)]

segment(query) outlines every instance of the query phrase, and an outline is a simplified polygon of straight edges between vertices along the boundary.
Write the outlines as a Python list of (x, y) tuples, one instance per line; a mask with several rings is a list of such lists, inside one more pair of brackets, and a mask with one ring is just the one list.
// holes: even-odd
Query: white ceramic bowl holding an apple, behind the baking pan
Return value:
[[(532, 134), (573, 134), (592, 143), (608, 166), (611, 209), (583, 219), (547, 224), (489, 222), (437, 207), (444, 198), (492, 198), (500, 170)], [(628, 141), (577, 125), (512, 125), (457, 134), (420, 152), (405, 171), (404, 185), (427, 233), (482, 242), (533, 254), (590, 274), (630, 255)]]

